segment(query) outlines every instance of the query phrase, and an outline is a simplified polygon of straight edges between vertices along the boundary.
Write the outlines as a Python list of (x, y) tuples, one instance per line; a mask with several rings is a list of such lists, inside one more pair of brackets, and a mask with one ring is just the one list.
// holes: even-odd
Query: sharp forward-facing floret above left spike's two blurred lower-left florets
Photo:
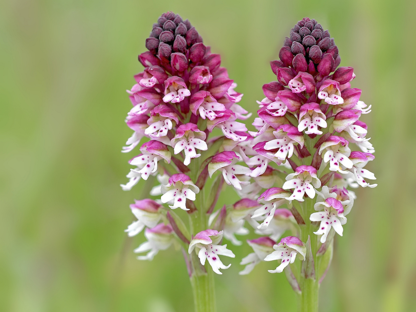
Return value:
[(161, 187), (161, 191), (163, 193), (162, 203), (169, 203), (169, 207), (172, 209), (189, 210), (186, 208), (186, 199), (195, 201), (199, 188), (192, 183), (191, 178), (186, 174), (175, 173), (169, 178), (168, 184)]

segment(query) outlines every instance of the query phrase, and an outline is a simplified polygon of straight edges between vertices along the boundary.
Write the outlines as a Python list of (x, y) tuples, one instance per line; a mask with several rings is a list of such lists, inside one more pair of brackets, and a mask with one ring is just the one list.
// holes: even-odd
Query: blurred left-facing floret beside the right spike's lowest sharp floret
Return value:
[(238, 272), (240, 275), (247, 275), (253, 271), (254, 267), (258, 265), (264, 258), (273, 252), (273, 246), (276, 242), (268, 237), (260, 237), (255, 240), (247, 240), (248, 245), (253, 248), (254, 253), (248, 254), (244, 257), (240, 265), (245, 265), (244, 270)]

